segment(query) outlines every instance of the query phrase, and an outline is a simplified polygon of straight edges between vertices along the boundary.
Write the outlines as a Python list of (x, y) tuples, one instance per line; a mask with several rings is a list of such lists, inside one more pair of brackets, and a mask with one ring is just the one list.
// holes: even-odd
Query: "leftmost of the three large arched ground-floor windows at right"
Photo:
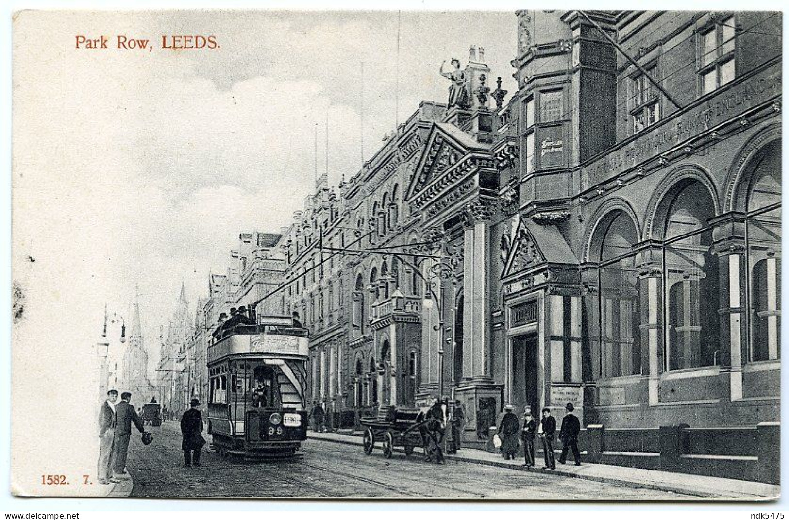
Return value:
[(597, 348), (602, 377), (641, 373), (641, 316), (632, 250), (636, 241), (635, 224), (621, 210), (601, 219), (593, 236), (593, 260), (599, 262)]

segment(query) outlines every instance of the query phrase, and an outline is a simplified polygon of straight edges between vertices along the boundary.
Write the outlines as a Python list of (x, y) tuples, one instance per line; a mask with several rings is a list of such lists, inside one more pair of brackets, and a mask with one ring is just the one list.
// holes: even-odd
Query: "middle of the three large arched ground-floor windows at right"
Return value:
[(718, 258), (712, 253), (714, 204), (699, 181), (667, 194), (664, 301), (669, 370), (716, 365), (720, 359)]

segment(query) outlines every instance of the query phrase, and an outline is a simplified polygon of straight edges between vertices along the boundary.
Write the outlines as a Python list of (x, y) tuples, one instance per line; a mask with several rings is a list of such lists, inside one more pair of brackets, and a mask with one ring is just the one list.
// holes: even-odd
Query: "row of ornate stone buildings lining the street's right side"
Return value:
[[(777, 421), (780, 14), (513, 23), (514, 82), (472, 47), (448, 103), (319, 178), (272, 239), (271, 290), (245, 301), (310, 330), (310, 402), (353, 428), (446, 395), (466, 446), (507, 402), (607, 428)], [(205, 323), (242, 283), (212, 277)]]

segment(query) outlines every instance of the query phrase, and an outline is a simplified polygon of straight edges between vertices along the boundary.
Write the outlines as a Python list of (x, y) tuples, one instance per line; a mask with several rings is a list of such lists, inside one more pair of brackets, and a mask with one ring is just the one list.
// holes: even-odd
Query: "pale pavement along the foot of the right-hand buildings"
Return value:
[[(361, 447), (361, 436), (339, 433), (308, 432), (310, 439), (332, 443), (358, 445)], [(376, 444), (380, 449), (380, 443)], [(402, 451), (402, 448), (395, 448)], [(417, 451), (418, 452), (418, 451)], [(548, 473), (564, 477), (581, 478), (587, 481), (615, 484), (628, 488), (652, 489), (655, 491), (673, 492), (681, 495), (695, 496), (703, 499), (728, 500), (774, 500), (780, 496), (780, 486), (762, 484), (760, 482), (738, 481), (730, 478), (705, 477), (686, 473), (671, 473), (655, 469), (638, 469), (605, 464), (584, 464), (574, 466), (558, 464), (556, 469), (540, 467), (525, 468), (521, 459), (505, 461), (501, 455), (481, 450), (464, 449), (457, 455), (446, 455), (447, 460), (469, 462), (484, 466), (518, 469), (529, 473)], [(538, 463), (540, 461), (537, 461)]]

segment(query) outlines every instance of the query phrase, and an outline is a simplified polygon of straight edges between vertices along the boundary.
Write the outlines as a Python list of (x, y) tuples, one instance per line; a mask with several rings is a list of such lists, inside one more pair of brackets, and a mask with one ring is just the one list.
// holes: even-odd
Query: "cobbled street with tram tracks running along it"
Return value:
[[(359, 447), (320, 440), (302, 445), (296, 462), (248, 463), (220, 458), (208, 447), (203, 466), (186, 468), (178, 424), (153, 428), (154, 442), (139, 439), (129, 448), (133, 497), (200, 498), (500, 498), (666, 500), (688, 498), (671, 492), (626, 488), (467, 462), (428, 465), (418, 454), (380, 451), (367, 456)], [(139, 436), (135, 436), (139, 437)], [(210, 440), (210, 437), (207, 437)], [(210, 446), (210, 444), (209, 444)]]

